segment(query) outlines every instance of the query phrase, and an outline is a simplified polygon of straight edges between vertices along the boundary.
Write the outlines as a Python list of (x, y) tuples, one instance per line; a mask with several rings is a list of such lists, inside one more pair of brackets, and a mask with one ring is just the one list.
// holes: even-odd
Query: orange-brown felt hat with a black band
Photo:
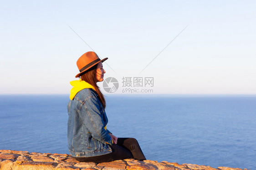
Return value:
[(82, 54), (82, 56), (80, 58), (78, 58), (78, 60), (77, 60), (77, 67), (78, 67), (80, 73), (78, 73), (76, 75), (76, 78), (80, 77), (81, 73), (84, 73), (89, 68), (96, 65), (97, 63), (99, 63), (99, 62), (103, 63), (106, 59), (108, 59), (108, 58), (104, 58), (101, 60), (97, 56), (97, 54), (92, 51), (88, 51), (87, 53)]

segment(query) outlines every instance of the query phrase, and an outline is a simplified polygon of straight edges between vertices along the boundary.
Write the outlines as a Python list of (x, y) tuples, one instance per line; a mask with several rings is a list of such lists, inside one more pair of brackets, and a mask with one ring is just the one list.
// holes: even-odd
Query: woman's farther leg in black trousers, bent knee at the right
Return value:
[(135, 138), (118, 138), (118, 146), (122, 146), (132, 152), (133, 158), (136, 160), (146, 160), (138, 141)]

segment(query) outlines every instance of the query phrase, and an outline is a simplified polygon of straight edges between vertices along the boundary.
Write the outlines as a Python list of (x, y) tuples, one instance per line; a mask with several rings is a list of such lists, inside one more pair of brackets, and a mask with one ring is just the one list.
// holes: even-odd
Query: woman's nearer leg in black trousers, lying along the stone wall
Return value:
[(111, 162), (114, 160), (124, 160), (124, 159), (133, 158), (132, 153), (121, 146), (113, 144), (110, 147), (112, 149), (112, 153), (110, 154), (92, 156), (92, 157), (75, 157), (75, 159), (80, 162), (102, 163), (102, 162)]

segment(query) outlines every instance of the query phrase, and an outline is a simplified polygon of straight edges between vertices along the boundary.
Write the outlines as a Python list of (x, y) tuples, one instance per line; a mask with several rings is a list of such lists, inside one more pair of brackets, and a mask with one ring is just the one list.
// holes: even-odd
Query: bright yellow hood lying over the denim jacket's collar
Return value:
[(82, 89), (92, 88), (93, 90), (96, 91), (96, 89), (91, 84), (85, 81), (82, 81), (82, 79), (74, 80), (70, 82), (70, 84), (73, 86), (73, 88), (70, 90), (70, 96), (69, 96), (70, 100), (73, 100), (77, 95), (77, 93), (80, 92)]

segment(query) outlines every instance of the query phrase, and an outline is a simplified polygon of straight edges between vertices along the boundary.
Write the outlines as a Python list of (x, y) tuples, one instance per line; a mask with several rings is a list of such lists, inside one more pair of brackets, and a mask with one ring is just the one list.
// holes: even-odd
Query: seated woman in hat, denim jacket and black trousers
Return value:
[(80, 80), (73, 86), (68, 110), (68, 148), (70, 154), (83, 162), (110, 162), (134, 158), (146, 160), (138, 141), (134, 138), (117, 138), (106, 125), (106, 102), (97, 82), (102, 82), (105, 70), (96, 53), (84, 53), (77, 60)]

